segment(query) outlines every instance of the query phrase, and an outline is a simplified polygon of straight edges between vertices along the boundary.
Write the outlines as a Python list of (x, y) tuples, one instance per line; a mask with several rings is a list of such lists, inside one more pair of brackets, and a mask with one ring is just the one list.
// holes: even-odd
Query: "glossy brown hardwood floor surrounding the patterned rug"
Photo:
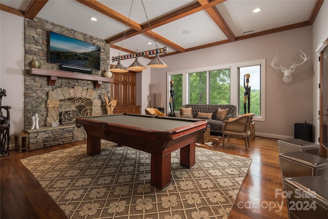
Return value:
[[(215, 142), (215, 136), (211, 137)], [(67, 218), (19, 160), (84, 143), (86, 140), (29, 152), (10, 151), (9, 156), (2, 157), (1, 218)], [(253, 159), (229, 218), (288, 218), (286, 200), (280, 193), (276, 196), (276, 191), (282, 191), (277, 140), (256, 137), (250, 145), (246, 151), (243, 140), (231, 138), (224, 148), (221, 145), (212, 147), (214, 150)]]

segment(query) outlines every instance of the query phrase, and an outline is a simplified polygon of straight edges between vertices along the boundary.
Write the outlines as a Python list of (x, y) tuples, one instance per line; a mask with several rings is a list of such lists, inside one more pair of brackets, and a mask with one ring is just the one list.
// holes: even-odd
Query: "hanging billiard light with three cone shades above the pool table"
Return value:
[[(130, 19), (130, 14), (131, 14), (132, 6), (133, 6), (133, 1), (134, 0), (132, 0), (132, 3), (131, 3), (128, 20)], [(126, 32), (127, 32), (127, 27), (128, 27), (128, 26), (126, 26), (126, 29), (124, 31), (124, 36), (123, 36), (123, 39), (122, 39), (122, 43), (121, 43), (121, 46), (120, 46), (120, 49), (119, 49), (118, 56), (116, 56), (116, 57), (113, 56), (112, 57), (113, 62), (117, 61), (117, 64), (113, 68), (110, 69), (112, 72), (128, 72), (129, 70), (131, 70), (131, 71), (144, 70), (144, 69), (146, 69), (146, 67), (144, 65), (142, 65), (141, 63), (139, 63), (138, 57), (148, 56), (148, 55), (153, 55), (153, 54), (155, 54), (155, 58), (152, 59), (152, 61), (147, 65), (148, 67), (153, 67), (153, 68), (166, 68), (166, 67), (168, 67), (159, 58), (159, 54), (167, 53), (168, 48), (163, 47), (163, 48), (158, 49), (158, 45), (156, 44), (154, 34), (153, 34), (153, 31), (152, 31), (152, 28), (150, 26), (149, 19), (148, 19), (147, 13), (146, 13), (145, 5), (144, 5), (144, 2), (142, 0), (141, 0), (141, 4), (142, 4), (142, 8), (144, 8), (144, 11), (145, 11), (145, 15), (146, 15), (146, 18), (147, 18), (147, 23), (148, 23), (150, 32), (152, 33), (152, 37), (153, 37), (153, 40), (154, 40), (154, 43), (155, 43), (155, 49), (150, 50), (150, 51), (144, 51), (144, 52), (138, 52), (138, 50), (136, 50), (135, 53), (131, 53), (131, 54), (128, 54), (128, 55), (122, 55), (121, 56), (120, 51), (122, 50), (122, 46), (123, 46), (123, 43), (124, 43), (124, 39), (125, 39), (125, 35), (126, 35)], [(135, 61), (128, 68), (126, 68), (120, 63), (120, 60), (128, 59), (128, 58), (135, 58)]]

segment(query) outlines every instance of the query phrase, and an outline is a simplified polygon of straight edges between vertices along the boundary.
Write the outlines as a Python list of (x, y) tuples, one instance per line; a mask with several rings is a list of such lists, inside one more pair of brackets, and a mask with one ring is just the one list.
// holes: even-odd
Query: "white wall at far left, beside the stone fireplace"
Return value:
[(24, 130), (24, 18), (0, 11), (0, 22), (0, 87), (7, 91), (7, 96), (2, 98), (2, 106), (12, 107), (12, 149), (14, 133)]

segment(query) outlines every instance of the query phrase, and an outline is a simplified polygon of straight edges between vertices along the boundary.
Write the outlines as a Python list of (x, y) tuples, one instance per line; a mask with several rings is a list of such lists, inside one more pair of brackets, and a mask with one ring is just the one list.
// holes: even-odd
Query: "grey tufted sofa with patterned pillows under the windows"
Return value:
[[(237, 116), (237, 107), (234, 105), (215, 105), (215, 104), (187, 104), (183, 105), (182, 108), (192, 108), (192, 117), (200, 118), (208, 121), (208, 125), (210, 125), (211, 132), (222, 132), (223, 121), (229, 120), (229, 118), (235, 118)], [(227, 109), (228, 113), (223, 118), (217, 116), (218, 109)], [(181, 109), (181, 108), (180, 108)], [(228, 110), (229, 109), (229, 110)], [(221, 111), (221, 110), (219, 110)], [(198, 113), (200, 112), (200, 113)], [(208, 113), (213, 113), (211, 118), (206, 118), (206, 115), (211, 115)], [(189, 117), (183, 116), (181, 111), (174, 112), (175, 117)], [(191, 117), (191, 116), (190, 116)]]

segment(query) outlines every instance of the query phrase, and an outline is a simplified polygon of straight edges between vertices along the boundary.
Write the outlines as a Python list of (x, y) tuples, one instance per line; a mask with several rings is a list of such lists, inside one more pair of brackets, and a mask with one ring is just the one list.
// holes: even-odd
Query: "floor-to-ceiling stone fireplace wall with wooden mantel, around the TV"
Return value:
[[(92, 74), (65, 72), (59, 70), (59, 65), (49, 63), (50, 31), (100, 46), (100, 71), (92, 70)], [(99, 78), (104, 78), (104, 73), (110, 65), (109, 50), (110, 46), (104, 39), (38, 17), (33, 20), (25, 19), (24, 131), (29, 134), (30, 150), (84, 140), (86, 139), (84, 128), (76, 127), (74, 117), (81, 115), (81, 112), (84, 113), (83, 110), (88, 111), (87, 115), (106, 114), (104, 94), (110, 96), (111, 83)], [(31, 71), (36, 56), (41, 63), (39, 74)], [(50, 71), (52, 75), (44, 74), (43, 70)], [(54, 72), (59, 73), (54, 75)], [(38, 112), (39, 129), (31, 129), (29, 103), (33, 98), (44, 101)], [(66, 117), (61, 113), (65, 111), (63, 108), (73, 120), (69, 121), (65, 118), (65, 124), (59, 123), (58, 126), (53, 127), (54, 121), (63, 122), (63, 116)], [(73, 111), (75, 115), (72, 114)]]

